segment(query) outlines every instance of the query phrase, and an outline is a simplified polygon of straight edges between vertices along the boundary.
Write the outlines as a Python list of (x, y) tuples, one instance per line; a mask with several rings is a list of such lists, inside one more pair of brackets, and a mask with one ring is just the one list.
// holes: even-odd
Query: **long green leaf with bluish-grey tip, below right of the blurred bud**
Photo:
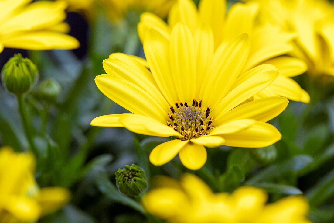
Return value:
[(258, 174), (249, 179), (247, 183), (254, 184), (261, 180), (268, 180), (273, 177), (281, 176), (282, 174), (287, 172), (298, 173), (300, 170), (302, 170), (312, 162), (313, 158), (311, 156), (298, 155), (289, 159), (288, 161), (280, 164), (271, 165), (261, 170)]

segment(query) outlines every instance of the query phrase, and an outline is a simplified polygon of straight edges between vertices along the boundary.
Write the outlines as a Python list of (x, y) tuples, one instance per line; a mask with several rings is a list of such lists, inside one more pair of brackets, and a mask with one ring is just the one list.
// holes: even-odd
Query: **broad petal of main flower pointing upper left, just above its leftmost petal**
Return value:
[(135, 84), (109, 74), (95, 78), (95, 83), (102, 93), (134, 114), (149, 116), (162, 123), (167, 114), (153, 98)]

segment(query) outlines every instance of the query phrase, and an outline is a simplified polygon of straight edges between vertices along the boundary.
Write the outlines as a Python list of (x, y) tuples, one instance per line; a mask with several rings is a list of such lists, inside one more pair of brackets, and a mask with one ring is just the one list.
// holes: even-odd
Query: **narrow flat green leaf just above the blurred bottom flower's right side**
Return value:
[(285, 194), (285, 195), (297, 195), (297, 194), (303, 194), (301, 190), (299, 190), (296, 187), (292, 187), (289, 185), (283, 185), (283, 184), (276, 184), (276, 183), (246, 183), (246, 185), (262, 188), (266, 190), (269, 193), (277, 193), (277, 194)]

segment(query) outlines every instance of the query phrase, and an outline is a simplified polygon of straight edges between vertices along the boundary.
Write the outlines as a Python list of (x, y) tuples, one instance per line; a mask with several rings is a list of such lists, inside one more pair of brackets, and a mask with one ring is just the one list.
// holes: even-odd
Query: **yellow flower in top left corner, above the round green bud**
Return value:
[(64, 1), (0, 0), (0, 52), (4, 47), (27, 50), (75, 49)]

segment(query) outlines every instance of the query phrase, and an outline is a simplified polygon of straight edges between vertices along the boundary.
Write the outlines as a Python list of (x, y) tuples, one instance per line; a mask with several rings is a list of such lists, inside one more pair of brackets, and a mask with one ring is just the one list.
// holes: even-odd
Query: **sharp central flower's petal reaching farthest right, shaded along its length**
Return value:
[(214, 125), (221, 125), (238, 119), (254, 119), (268, 122), (284, 111), (289, 101), (284, 97), (267, 97), (239, 105), (227, 111), (219, 119), (214, 119)]

